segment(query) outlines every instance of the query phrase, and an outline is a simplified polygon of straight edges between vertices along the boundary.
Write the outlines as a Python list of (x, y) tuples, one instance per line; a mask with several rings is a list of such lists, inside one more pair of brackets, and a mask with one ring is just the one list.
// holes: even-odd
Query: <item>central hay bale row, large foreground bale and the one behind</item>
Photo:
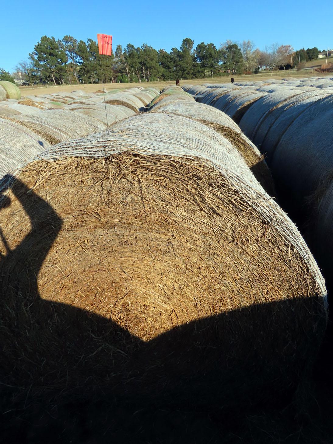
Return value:
[(271, 402), (315, 356), (316, 262), (252, 174), (253, 145), (182, 95), (3, 183), (1, 387), (24, 403), (94, 390), (141, 407)]

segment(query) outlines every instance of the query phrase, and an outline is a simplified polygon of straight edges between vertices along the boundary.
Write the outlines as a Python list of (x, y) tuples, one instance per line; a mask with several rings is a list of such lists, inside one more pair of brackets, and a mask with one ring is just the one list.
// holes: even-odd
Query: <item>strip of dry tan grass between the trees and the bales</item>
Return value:
[[(330, 57), (329, 59), (333, 59), (333, 57)], [(292, 70), (292, 71), (274, 71), (273, 75), (270, 73), (270, 71), (264, 71), (264, 72), (260, 72), (259, 74), (251, 74), (251, 75), (230, 75), (230, 76), (221, 76), (221, 77), (206, 77), (205, 79), (182, 79), (180, 81), (180, 85), (185, 85), (185, 84), (192, 84), (192, 85), (198, 85), (198, 84), (202, 84), (202, 83), (230, 83), (230, 78), (234, 77), (235, 81), (238, 80), (249, 80), (249, 81), (253, 81), (255, 80), (262, 80), (262, 79), (283, 79), (283, 78), (287, 78), (287, 77), (295, 77), (295, 78), (301, 78), (301, 77), (312, 77), (312, 76), (330, 76), (332, 77), (332, 74), (320, 74), (320, 73), (313, 73), (312, 70), (309, 71), (308, 73), (306, 73), (306, 71), (302, 70), (302, 71), (296, 71), (296, 70)], [(170, 81), (170, 82), (142, 82), (142, 83), (105, 83), (104, 84), (104, 88), (108, 91), (114, 88), (123, 88), (124, 90), (127, 88), (132, 88), (135, 86), (143, 86), (143, 87), (148, 87), (148, 86), (155, 86), (157, 88), (163, 89), (163, 87), (168, 86), (168, 85), (174, 85), (174, 81)], [(64, 85), (64, 86), (52, 86), (49, 85), (48, 87), (34, 87), (32, 89), (32, 87), (20, 87), (21, 90), (21, 94), (23, 97), (27, 96), (27, 95), (44, 95), (44, 94), (52, 94), (55, 92), (71, 92), (71, 91), (77, 91), (78, 89), (83, 90), (83, 91), (87, 91), (87, 92), (95, 92), (98, 91), (102, 88), (102, 84), (101, 83), (94, 83), (94, 84), (88, 84), (88, 85)]]

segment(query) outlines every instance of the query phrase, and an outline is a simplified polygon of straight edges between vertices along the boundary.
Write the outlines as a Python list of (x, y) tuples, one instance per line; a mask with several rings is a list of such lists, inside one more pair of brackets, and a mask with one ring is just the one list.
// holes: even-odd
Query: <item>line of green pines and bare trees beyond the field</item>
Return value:
[[(222, 73), (258, 73), (266, 69), (274, 71), (296, 66), (318, 57), (317, 48), (294, 52), (291, 45), (272, 44), (264, 51), (254, 48), (253, 42), (242, 43), (227, 40), (216, 48), (204, 42), (194, 48), (190, 38), (182, 40), (180, 48), (156, 50), (142, 44), (125, 48), (117, 45), (111, 56), (100, 56), (95, 40), (76, 40), (64, 36), (62, 40), (43, 36), (29, 54), (16, 66), (29, 84), (34, 83), (105, 83), (149, 82), (202, 78)], [(0, 69), (0, 79), (10, 74)], [(2, 77), (1, 77), (2, 76)]]

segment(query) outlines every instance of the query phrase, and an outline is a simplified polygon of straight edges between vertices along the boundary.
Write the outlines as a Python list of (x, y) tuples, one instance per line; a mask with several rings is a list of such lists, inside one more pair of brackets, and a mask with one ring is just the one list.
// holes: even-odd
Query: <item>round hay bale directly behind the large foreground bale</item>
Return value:
[(228, 115), (203, 103), (176, 100), (163, 105), (164, 100), (151, 112), (182, 115), (218, 131), (238, 149), (264, 190), (271, 196), (275, 195), (272, 175), (262, 154)]

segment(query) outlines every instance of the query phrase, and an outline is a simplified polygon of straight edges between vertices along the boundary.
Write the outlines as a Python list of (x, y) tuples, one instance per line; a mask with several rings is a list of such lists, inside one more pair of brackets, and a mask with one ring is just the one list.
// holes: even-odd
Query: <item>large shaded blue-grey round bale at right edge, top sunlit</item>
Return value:
[(310, 196), (333, 171), (333, 95), (305, 94), (311, 96), (288, 107), (263, 141), (272, 147), (268, 161), (281, 202), (303, 223), (311, 218)]

